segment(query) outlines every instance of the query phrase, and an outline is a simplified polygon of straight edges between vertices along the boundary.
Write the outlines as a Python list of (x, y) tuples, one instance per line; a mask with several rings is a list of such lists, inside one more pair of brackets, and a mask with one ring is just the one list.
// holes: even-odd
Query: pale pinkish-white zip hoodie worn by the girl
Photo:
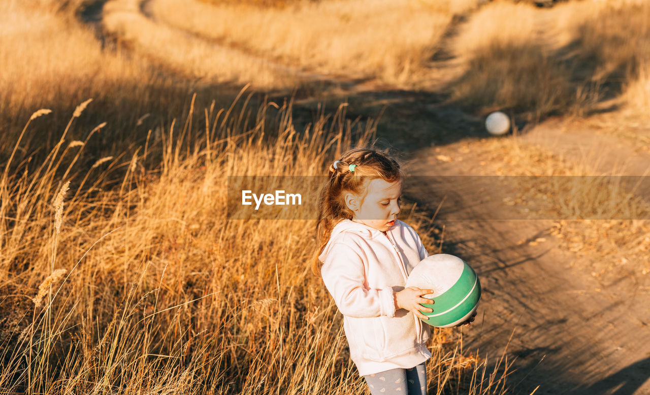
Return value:
[(428, 257), (420, 237), (395, 220), (386, 235), (341, 220), (318, 256), (325, 286), (343, 314), (350, 357), (359, 376), (412, 368), (431, 357), (431, 329), (413, 312), (395, 310), (394, 292), (406, 286), (415, 265)]

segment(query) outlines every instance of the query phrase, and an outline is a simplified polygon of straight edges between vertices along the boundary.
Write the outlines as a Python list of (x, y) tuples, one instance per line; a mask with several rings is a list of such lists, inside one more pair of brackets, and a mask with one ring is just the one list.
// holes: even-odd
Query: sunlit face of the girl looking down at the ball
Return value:
[(354, 211), (352, 220), (385, 232), (393, 226), (400, 212), (402, 181), (389, 183), (383, 179), (372, 179), (367, 188), (368, 194), (363, 200), (355, 194), (346, 194), (346, 204)]

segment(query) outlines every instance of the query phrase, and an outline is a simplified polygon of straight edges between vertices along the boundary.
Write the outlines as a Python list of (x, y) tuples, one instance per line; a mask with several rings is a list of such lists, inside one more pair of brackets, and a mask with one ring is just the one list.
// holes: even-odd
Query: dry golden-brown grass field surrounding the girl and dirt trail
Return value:
[[(324, 175), (393, 136), (441, 174), (629, 174), (522, 138), (552, 119), (650, 146), (645, 1), (9, 0), (0, 37), (0, 393), (367, 394), (309, 270), (315, 222), (227, 220), (227, 176)], [(481, 136), (493, 110), (525, 126)], [(638, 218), (547, 231), (567, 266), (647, 298), (647, 196), (558, 183), (512, 204), (551, 194), (561, 216)], [(429, 253), (460, 246), (416, 201), (400, 219)], [(523, 380), (509, 335), (488, 355), (475, 327), (432, 331), (429, 394)], [(553, 393), (539, 377), (527, 393)]]

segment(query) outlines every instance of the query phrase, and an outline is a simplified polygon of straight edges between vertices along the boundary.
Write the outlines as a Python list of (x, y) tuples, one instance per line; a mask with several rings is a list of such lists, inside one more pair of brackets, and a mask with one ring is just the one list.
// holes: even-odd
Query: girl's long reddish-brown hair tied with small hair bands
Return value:
[[(354, 171), (349, 166), (356, 164)], [(370, 148), (353, 148), (344, 152), (337, 162), (330, 164), (330, 177), (318, 191), (318, 217), (316, 221), (317, 249), (314, 253), (311, 270), (320, 275), (320, 260), (331, 231), (340, 220), (352, 220), (354, 212), (345, 204), (343, 192), (352, 192), (361, 199), (368, 192), (367, 181), (383, 179), (389, 183), (404, 179), (402, 166), (385, 151)]]

